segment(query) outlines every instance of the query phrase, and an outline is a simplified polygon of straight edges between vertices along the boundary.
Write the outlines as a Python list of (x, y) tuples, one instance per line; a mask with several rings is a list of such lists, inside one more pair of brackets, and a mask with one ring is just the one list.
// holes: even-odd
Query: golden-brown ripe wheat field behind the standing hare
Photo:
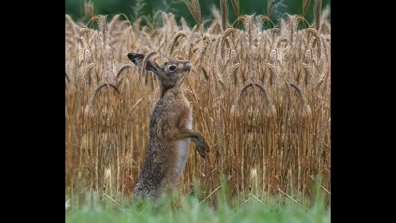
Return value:
[(312, 24), (304, 14), (271, 21), (269, 4), (266, 15), (239, 15), (236, 28), (224, 6), (204, 25), (197, 2), (185, 2), (198, 25), (158, 12), (160, 26), (142, 26), (123, 14), (95, 14), (90, 5), (86, 24), (65, 15), (65, 194), (72, 206), (87, 191), (114, 206), (133, 196), (158, 84), (127, 54), (156, 52), (151, 58), (160, 65), (193, 64), (184, 90), (193, 129), (210, 146), (203, 160), (190, 144), (180, 194), (215, 206), (225, 176), (229, 195), (240, 202), (282, 194), (303, 203), (320, 177), (330, 207), (329, 10), (313, 1)]

